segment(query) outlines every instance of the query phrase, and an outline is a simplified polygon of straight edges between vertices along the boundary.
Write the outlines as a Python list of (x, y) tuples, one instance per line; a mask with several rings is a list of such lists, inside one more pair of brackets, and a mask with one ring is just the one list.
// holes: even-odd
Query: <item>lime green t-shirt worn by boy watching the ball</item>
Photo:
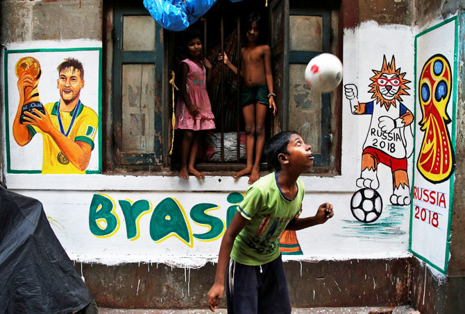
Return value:
[(280, 255), (279, 241), (287, 224), (301, 213), (304, 186), (297, 180), (297, 194), (282, 194), (276, 172), (262, 177), (246, 191), (237, 211), (250, 220), (237, 235), (231, 259), (244, 265), (263, 265)]

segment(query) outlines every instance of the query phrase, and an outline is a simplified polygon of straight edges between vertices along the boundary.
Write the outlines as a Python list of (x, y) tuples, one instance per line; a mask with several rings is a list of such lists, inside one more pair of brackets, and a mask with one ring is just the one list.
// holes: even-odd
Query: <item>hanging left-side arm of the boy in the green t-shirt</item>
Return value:
[(226, 265), (228, 265), (229, 255), (233, 249), (235, 238), (239, 232), (248, 223), (248, 220), (244, 218), (239, 212), (237, 212), (228, 225), (228, 229), (224, 233), (223, 240), (221, 241), (221, 247), (219, 248), (218, 254), (218, 265), (217, 274), (214, 277), (214, 284), (210, 291), (208, 291), (208, 307), (214, 312), (214, 309), (218, 307), (224, 292), (224, 274), (226, 273)]

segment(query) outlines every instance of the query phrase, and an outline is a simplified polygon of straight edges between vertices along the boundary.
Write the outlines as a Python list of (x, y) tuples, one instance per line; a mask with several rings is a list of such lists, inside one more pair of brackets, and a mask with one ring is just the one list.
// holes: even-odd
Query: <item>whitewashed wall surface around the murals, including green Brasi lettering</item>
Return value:
[[(400, 104), (412, 111), (415, 97), (409, 95), (410, 90), (401, 89), (400, 83), (395, 89), (398, 88), (398, 93), (406, 93), (398, 94), (401, 96), (400, 100), (394, 98), (391, 103), (383, 101), (384, 96), (380, 93), (380, 101), (377, 103), (374, 98), (370, 99), (375, 93), (370, 91), (373, 86), (369, 85), (376, 82), (389, 86), (383, 89), (387, 94), (387, 90), (393, 89), (397, 84), (396, 80), (393, 80), (393, 75), (396, 74), (401, 81), (405, 80), (403, 84), (406, 87), (412, 87), (408, 82), (412, 80), (410, 73), (414, 67), (414, 35), (411, 28), (399, 26), (392, 30), (387, 26), (366, 23), (350, 30), (353, 32), (351, 34), (347, 35), (346, 30), (344, 32), (344, 71), (346, 67), (348, 69), (344, 80), (346, 83), (355, 82), (353, 87), (357, 88), (357, 99), (360, 98), (360, 102), (355, 97), (352, 101), (360, 103), (357, 104), (360, 109), (362, 104), (366, 109), (366, 104), (373, 101), (373, 107), (378, 105), (377, 110), (387, 112), (378, 116), (389, 116), (396, 121), (396, 126), (401, 126), (396, 124), (404, 123), (397, 120), (402, 116)], [(380, 33), (382, 35), (378, 35)], [(373, 38), (376, 39), (374, 43)], [(359, 44), (354, 45), (353, 42)], [(405, 49), (399, 49), (393, 44), (395, 42), (409, 44)], [(223, 232), (235, 214), (237, 204), (244, 199), (244, 193), (231, 191), (245, 191), (246, 182), (221, 175), (212, 175), (205, 177), (205, 180), (192, 182), (180, 182), (178, 177), (169, 175), (42, 175), (42, 134), (37, 132), (24, 146), (19, 146), (15, 141), (12, 122), (17, 115), (20, 101), (17, 84), (19, 78), (15, 73), (17, 62), (22, 58), (32, 57), (40, 64), (41, 75), (35, 85), (40, 94), (37, 103), (47, 104), (56, 103), (60, 99), (60, 89), (57, 88), (59, 72), (56, 68), (65, 58), (71, 57), (81, 61), (85, 71), (85, 84), (80, 90), (79, 99), (99, 117), (94, 138), (95, 147), (86, 173), (97, 173), (101, 169), (101, 49), (73, 48), (74, 43), (71, 42), (62, 51), (46, 51), (40, 47), (36, 50), (22, 49), (24, 46), (8, 47), (6, 58), (3, 59), (5, 77), (8, 78), (5, 80), (8, 83), (5, 89), (8, 102), (5, 107), (5, 125), (8, 132), (3, 134), (6, 140), (4, 154), (9, 156), (5, 173), (9, 188), (36, 198), (44, 204), (44, 211), (53, 231), (69, 257), (75, 261), (104, 265), (165, 263), (192, 268), (201, 267), (205, 263), (216, 263)], [(376, 49), (362, 49), (372, 43)], [(47, 46), (54, 45), (56, 43)], [(386, 57), (383, 58), (383, 55)], [(385, 80), (370, 80), (373, 77), (371, 69), (385, 73), (386, 78), (382, 77), (382, 73), (378, 77)], [(37, 78), (37, 74), (31, 74), (31, 77)], [(402, 141), (403, 132), (407, 131), (409, 125), (407, 128), (394, 128), (392, 134), (398, 135), (389, 138), (389, 132), (382, 130), (378, 125), (379, 120), (375, 120), (379, 119), (378, 116), (349, 113), (348, 103), (349, 100), (344, 98), (344, 115), (341, 117), (341, 175), (302, 177), (306, 193), (301, 216), (313, 216), (318, 205), (328, 200), (334, 204), (336, 216), (324, 225), (298, 232), (285, 232), (280, 241), (284, 260), (384, 259), (409, 256), (409, 210), (405, 205), (391, 203), (391, 195), (395, 191), (395, 186), (391, 183), (392, 169), (382, 162), (379, 162), (376, 168), (369, 169), (371, 175), (375, 175), (372, 178), (378, 179), (378, 189), (371, 186), (374, 180), (366, 181), (367, 184), (370, 183), (369, 187), (364, 185), (365, 180), (359, 180), (361, 186), (356, 185), (357, 179), (362, 177), (360, 167), (364, 142), (369, 137), (373, 138), (373, 141), (378, 139), (379, 145), (380, 141), (384, 141), (383, 148), (388, 152), (388, 148), (392, 146), (387, 146), (387, 143), (395, 142), (396, 145), (399, 144), (394, 146), (396, 152), (397, 148), (405, 148), (403, 154), (407, 157), (412, 143), (407, 141), (405, 146), (401, 146), (398, 141), (399, 137)], [(45, 107), (47, 109), (47, 105)], [(391, 114), (391, 110), (396, 114)], [(407, 113), (407, 110), (403, 114)], [(386, 121), (384, 123), (387, 127), (389, 122)], [(59, 125), (56, 129), (60, 130)], [(66, 131), (67, 125), (64, 125), (64, 129)], [(374, 132), (371, 132), (371, 129), (375, 129)], [(389, 153), (393, 155), (393, 152)], [(405, 178), (407, 184), (410, 184), (408, 179), (412, 177), (412, 168), (412, 159), (409, 159), (410, 172)], [(368, 223), (373, 214), (367, 215), (369, 219), (365, 222), (354, 218), (349, 204), (350, 198), (356, 192), (355, 197), (360, 200), (359, 205), (363, 210), (371, 207), (371, 210), (379, 213), (382, 211), (378, 220)], [(405, 202), (405, 199), (400, 200)], [(448, 202), (447, 198), (445, 202)], [(317, 241), (322, 235), (325, 241)]]

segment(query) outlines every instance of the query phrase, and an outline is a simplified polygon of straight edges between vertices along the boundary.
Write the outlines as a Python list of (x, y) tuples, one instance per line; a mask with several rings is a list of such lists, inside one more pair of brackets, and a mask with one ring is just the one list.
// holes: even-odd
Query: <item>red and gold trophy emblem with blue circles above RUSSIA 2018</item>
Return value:
[(423, 118), (423, 143), (416, 167), (432, 183), (449, 179), (455, 166), (455, 154), (450, 143), (447, 106), (451, 90), (450, 64), (441, 54), (433, 55), (423, 66), (418, 82), (418, 98)]

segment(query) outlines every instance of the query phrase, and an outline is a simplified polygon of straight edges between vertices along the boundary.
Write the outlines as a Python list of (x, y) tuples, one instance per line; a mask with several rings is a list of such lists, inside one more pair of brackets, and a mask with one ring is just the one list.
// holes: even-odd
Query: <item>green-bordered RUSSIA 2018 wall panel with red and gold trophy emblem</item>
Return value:
[(453, 211), (457, 27), (457, 17), (452, 17), (415, 37), (418, 96), (410, 250), (444, 273)]

